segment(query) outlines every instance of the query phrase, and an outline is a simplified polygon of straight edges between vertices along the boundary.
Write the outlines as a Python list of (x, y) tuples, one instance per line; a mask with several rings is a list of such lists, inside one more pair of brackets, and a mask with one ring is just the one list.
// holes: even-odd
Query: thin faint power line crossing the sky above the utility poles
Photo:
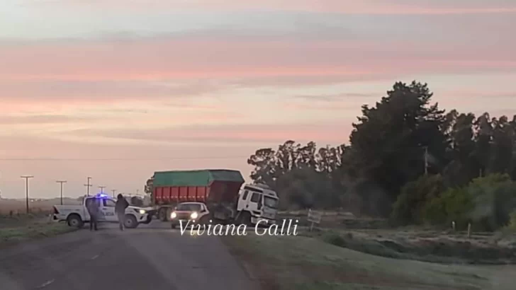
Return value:
[(0, 158), (0, 161), (163, 161), (163, 160), (203, 160), (240, 159), (249, 156), (202, 156), (202, 157), (159, 157), (159, 158)]

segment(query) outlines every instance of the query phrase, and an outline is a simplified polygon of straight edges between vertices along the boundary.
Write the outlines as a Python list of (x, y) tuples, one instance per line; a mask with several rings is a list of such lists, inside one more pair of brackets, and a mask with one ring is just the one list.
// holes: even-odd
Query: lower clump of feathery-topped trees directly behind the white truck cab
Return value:
[(254, 166), (252, 180), (274, 188), (286, 207), (338, 207), (342, 180), (337, 171), (345, 148), (318, 149), (313, 141), (303, 146), (288, 140), (277, 150), (258, 149), (247, 163)]

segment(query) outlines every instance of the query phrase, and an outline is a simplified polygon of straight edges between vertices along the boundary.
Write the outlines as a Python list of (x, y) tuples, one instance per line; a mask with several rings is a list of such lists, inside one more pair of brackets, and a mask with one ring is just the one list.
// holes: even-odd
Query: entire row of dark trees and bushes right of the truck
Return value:
[[(397, 82), (374, 106), (361, 107), (349, 144), (318, 148), (313, 141), (288, 140), (277, 149), (258, 149), (247, 160), (254, 167), (251, 178), (279, 192), (285, 209), (344, 207), (356, 214), (438, 224), (448, 222), (451, 211), (454, 218), (464, 211), (469, 221), (478, 200), (493, 205), (499, 198), (507, 199), (505, 222), (515, 194), (501, 197), (493, 189), (503, 184), (507, 191), (512, 186), (507, 182), (516, 179), (516, 115), (447, 112), (432, 95), (426, 83)], [(490, 186), (486, 196), (478, 193), (483, 182)], [(451, 203), (461, 204), (460, 198), (471, 205), (444, 209), (459, 207)]]

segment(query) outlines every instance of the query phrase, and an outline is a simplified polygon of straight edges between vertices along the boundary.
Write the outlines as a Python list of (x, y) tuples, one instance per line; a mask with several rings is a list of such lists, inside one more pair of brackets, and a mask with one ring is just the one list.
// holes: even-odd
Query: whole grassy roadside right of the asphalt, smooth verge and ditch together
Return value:
[(395, 228), (381, 219), (325, 213), (298, 236), (223, 237), (264, 289), (515, 289), (516, 237), (442, 228)]

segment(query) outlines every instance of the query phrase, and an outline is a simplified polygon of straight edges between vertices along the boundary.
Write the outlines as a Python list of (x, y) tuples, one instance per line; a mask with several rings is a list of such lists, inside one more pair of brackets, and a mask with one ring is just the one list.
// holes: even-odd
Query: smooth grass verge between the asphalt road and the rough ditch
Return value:
[(514, 289), (515, 266), (378, 257), (305, 236), (224, 237), (264, 289)]

